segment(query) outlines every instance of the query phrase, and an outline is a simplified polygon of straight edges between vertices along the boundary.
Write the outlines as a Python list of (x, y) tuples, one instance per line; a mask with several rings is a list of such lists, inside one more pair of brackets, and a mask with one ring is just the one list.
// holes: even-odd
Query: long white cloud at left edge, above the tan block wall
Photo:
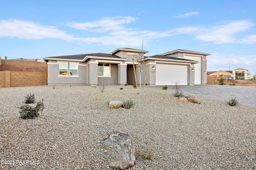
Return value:
[(18, 37), (23, 39), (58, 38), (75, 40), (56, 27), (44, 26), (32, 21), (2, 20), (0, 21), (0, 37)]

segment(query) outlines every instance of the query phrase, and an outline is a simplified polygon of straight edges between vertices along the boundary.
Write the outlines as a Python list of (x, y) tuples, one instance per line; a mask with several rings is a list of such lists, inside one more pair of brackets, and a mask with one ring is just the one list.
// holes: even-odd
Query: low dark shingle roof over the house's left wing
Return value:
[(90, 53), (90, 54), (78, 54), (78, 55), (64, 55), (64, 56), (56, 56), (56, 57), (44, 57), (45, 60), (47, 59), (71, 59), (71, 60), (83, 60), (86, 56), (92, 57), (107, 57), (107, 58), (117, 58), (121, 59), (116, 55), (111, 55), (107, 53)]

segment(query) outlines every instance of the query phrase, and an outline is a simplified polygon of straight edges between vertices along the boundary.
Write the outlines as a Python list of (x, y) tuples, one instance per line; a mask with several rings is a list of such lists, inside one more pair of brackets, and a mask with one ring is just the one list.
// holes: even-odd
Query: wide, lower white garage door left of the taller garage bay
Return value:
[(156, 64), (156, 85), (172, 85), (174, 82), (188, 85), (188, 66)]

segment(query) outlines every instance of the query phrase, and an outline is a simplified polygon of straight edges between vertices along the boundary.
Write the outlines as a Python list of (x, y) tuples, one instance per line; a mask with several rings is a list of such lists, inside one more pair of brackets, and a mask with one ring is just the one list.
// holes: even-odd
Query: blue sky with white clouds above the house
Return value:
[(256, 72), (255, 0), (1, 0), (0, 56), (42, 59), (111, 53), (210, 53), (208, 71)]

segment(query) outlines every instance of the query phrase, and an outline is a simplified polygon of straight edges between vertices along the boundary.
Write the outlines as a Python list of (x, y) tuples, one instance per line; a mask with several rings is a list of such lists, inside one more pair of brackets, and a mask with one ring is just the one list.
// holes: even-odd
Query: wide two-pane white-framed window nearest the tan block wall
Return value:
[(78, 63), (59, 62), (60, 76), (78, 76)]

